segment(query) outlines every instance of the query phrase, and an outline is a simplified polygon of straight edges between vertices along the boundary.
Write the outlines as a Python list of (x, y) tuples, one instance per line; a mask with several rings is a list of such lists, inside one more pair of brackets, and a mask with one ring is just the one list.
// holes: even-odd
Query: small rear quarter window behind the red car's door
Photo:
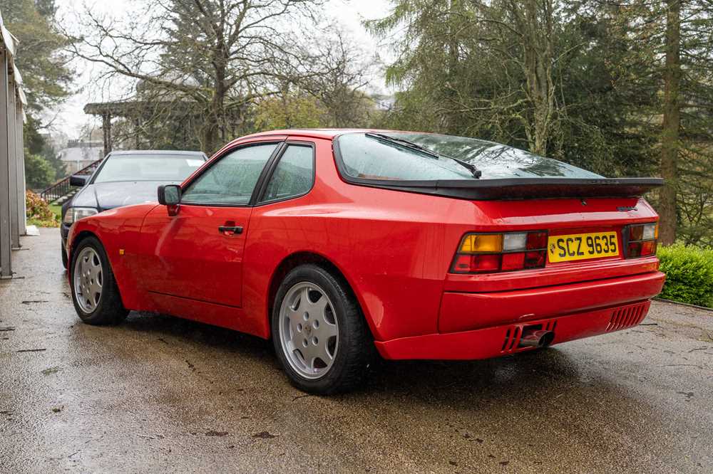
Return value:
[(262, 201), (299, 196), (312, 189), (314, 159), (312, 147), (289, 145), (267, 183)]

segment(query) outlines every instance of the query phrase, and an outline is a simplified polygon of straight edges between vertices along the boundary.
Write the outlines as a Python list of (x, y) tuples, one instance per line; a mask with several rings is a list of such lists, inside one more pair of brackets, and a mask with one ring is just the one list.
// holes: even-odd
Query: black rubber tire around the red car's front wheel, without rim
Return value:
[[(81, 305), (77, 301), (75, 287), (75, 271), (76, 271), (76, 260), (82, 251), (90, 247), (92, 248), (100, 262), (101, 262), (101, 296), (98, 302), (96, 302), (96, 307), (93, 308), (91, 312), (86, 312), (83, 310)], [(119, 288), (116, 285), (116, 280), (114, 279), (114, 273), (111, 270), (111, 265), (106, 257), (106, 252), (101, 242), (96, 237), (84, 238), (72, 252), (72, 265), (69, 269), (70, 278), (69, 285), (72, 293), (72, 302), (74, 303), (74, 309), (77, 315), (83, 322), (88, 325), (117, 325), (126, 318), (128, 311), (124, 308), (121, 302), (121, 296), (119, 294)]]

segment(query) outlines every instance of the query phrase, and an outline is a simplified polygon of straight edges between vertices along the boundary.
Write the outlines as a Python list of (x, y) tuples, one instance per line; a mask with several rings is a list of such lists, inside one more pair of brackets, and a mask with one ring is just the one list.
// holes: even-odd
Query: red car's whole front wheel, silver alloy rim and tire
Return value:
[(83, 322), (115, 325), (128, 314), (106, 252), (96, 237), (85, 238), (72, 253), (69, 281), (74, 309)]

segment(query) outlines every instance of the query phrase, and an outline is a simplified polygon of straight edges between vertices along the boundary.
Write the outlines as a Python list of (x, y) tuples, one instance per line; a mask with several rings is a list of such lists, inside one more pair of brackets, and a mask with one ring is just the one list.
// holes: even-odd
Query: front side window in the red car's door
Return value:
[(247, 204), (277, 143), (236, 149), (212, 164), (184, 191), (182, 203)]

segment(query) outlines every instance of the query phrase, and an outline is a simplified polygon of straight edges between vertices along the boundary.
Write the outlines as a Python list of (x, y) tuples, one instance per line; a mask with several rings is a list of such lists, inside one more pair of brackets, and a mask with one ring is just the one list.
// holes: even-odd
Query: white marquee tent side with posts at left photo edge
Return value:
[(12, 278), (12, 251), (26, 233), (22, 124), (27, 100), (15, 67), (17, 40), (0, 12), (0, 278)]

